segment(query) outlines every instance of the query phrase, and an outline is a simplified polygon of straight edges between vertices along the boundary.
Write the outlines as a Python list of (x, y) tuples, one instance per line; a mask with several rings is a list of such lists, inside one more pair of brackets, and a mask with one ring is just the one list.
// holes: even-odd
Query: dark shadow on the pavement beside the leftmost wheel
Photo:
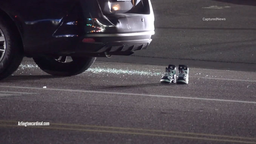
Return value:
[(13, 81), (25, 81), (25, 80), (40, 80), (40, 79), (52, 79), (52, 78), (63, 78), (60, 76), (53, 76), (53, 75), (12, 75), (1, 82), (13, 82)]

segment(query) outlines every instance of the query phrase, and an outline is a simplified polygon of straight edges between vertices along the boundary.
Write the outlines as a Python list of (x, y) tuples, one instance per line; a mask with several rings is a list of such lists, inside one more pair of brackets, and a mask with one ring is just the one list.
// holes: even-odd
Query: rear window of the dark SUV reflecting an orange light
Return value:
[(120, 13), (150, 14), (148, 0), (98, 0), (104, 15)]

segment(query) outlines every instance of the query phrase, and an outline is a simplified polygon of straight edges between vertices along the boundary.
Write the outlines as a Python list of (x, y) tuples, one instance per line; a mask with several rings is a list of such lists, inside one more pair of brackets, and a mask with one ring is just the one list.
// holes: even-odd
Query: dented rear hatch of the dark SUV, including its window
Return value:
[(103, 15), (114, 27), (105, 33), (137, 33), (154, 30), (150, 0), (97, 0)]

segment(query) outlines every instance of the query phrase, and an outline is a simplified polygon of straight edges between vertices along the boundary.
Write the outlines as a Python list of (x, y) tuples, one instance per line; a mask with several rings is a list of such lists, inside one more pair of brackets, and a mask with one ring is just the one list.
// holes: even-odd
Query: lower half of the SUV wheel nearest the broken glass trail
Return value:
[(56, 76), (78, 75), (93, 65), (96, 57), (34, 57), (35, 63), (48, 74)]

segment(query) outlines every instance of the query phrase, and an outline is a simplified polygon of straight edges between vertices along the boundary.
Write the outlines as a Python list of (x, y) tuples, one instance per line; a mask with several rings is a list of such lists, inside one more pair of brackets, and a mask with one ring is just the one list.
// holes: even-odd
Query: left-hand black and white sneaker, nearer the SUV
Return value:
[(169, 65), (168, 68), (165, 68), (165, 74), (162, 76), (161, 83), (176, 83), (176, 66)]

